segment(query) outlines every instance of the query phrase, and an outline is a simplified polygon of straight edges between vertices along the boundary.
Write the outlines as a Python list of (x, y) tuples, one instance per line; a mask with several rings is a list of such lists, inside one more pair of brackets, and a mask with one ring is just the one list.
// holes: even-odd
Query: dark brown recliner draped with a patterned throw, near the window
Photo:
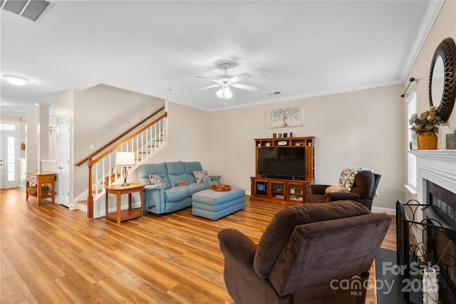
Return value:
[(377, 192), (378, 183), (380, 182), (380, 174), (375, 174), (371, 171), (361, 171), (355, 176), (355, 182), (351, 192), (330, 192), (325, 193), (327, 184), (311, 184), (311, 196), (309, 203), (322, 203), (324, 201), (341, 201), (352, 200), (363, 204), (372, 209), (373, 196)]

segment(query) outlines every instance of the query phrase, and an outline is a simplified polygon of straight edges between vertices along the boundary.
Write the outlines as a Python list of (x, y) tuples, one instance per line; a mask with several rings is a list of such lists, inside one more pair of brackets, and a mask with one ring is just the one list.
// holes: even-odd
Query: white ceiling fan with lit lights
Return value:
[(228, 98), (232, 98), (233, 97), (233, 93), (229, 89), (229, 87), (238, 88), (238, 89), (242, 89), (242, 90), (251, 90), (251, 91), (259, 91), (259, 90), (261, 90), (260, 87), (256, 87), (254, 85), (243, 85), (242, 83), (239, 83), (242, 80), (246, 80), (246, 79), (252, 78), (252, 75), (247, 74), (247, 73), (242, 73), (241, 75), (237, 75), (237, 76), (232, 77), (231, 75), (227, 75), (227, 69), (230, 67), (230, 64), (229, 63), (222, 63), (221, 66), (225, 70), (225, 73), (224, 73), (224, 75), (219, 75), (217, 77), (217, 79), (207, 78), (207, 77), (204, 77), (204, 76), (195, 76), (197, 78), (208, 79), (208, 80), (214, 81), (214, 83), (217, 83), (216, 85), (209, 85), (207, 87), (200, 88), (197, 91), (206, 90), (206, 89), (209, 89), (209, 88), (222, 87), (215, 94), (217, 94), (217, 96), (219, 96), (219, 98), (228, 99)]

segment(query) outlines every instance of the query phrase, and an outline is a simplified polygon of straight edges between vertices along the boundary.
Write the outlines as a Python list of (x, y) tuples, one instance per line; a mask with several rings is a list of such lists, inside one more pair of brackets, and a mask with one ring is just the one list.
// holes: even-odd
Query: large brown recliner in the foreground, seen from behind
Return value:
[(236, 304), (364, 303), (368, 271), (390, 221), (356, 202), (335, 201), (284, 207), (258, 244), (223, 229), (229, 295)]

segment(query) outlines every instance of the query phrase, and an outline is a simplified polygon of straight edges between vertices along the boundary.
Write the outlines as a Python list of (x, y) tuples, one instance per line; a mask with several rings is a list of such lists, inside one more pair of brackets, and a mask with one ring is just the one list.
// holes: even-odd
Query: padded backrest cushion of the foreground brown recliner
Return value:
[(370, 211), (366, 206), (354, 201), (301, 204), (280, 209), (274, 214), (264, 234), (261, 236), (255, 253), (254, 271), (261, 278), (268, 276), (277, 256), (281, 253), (296, 226), (369, 213)]

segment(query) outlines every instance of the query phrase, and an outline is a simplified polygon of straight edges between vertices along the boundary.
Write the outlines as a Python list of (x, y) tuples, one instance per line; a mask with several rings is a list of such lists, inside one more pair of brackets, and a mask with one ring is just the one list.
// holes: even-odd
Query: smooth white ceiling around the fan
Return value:
[[(204, 110), (403, 83), (442, 1), (56, 1), (38, 23), (1, 10), (2, 112), (104, 83)], [(220, 100), (195, 91), (234, 65)], [(171, 89), (170, 91), (166, 89)], [(279, 95), (268, 93), (281, 92)], [(54, 109), (55, 111), (55, 109)]]

